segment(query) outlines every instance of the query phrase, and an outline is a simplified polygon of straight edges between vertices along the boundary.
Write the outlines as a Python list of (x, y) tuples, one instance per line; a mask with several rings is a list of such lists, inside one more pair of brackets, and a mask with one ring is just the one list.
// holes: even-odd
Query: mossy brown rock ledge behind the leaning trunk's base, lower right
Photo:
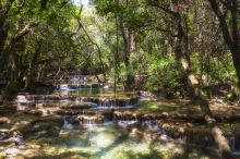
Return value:
[[(212, 134), (212, 129), (207, 125), (193, 125), (184, 122), (163, 122), (158, 121), (158, 126), (164, 132), (173, 139), (178, 139), (185, 144), (194, 144), (203, 147), (214, 147), (217, 145), (215, 143), (214, 136)], [(220, 125), (219, 125), (220, 126)], [(223, 133), (229, 142), (232, 151), (240, 150), (239, 139), (240, 134), (237, 130), (231, 130), (230, 132), (224, 127)], [(233, 132), (233, 133), (232, 133)]]

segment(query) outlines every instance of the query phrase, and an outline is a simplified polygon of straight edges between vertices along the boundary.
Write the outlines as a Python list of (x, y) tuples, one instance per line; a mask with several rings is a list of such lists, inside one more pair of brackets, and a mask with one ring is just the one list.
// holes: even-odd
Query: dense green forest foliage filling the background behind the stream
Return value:
[[(184, 96), (183, 77), (188, 72), (176, 60), (179, 45), (181, 53), (190, 57), (191, 71), (206, 87), (205, 94), (212, 95), (211, 85), (237, 85), (232, 53), (207, 2), (196, 0), (192, 5), (180, 0), (92, 0), (92, 13), (68, 0), (22, 2), (0, 2), (2, 11), (8, 11), (0, 12), (0, 34), (7, 34), (0, 41), (0, 60), (7, 57), (0, 76), (9, 82), (22, 81), (32, 64), (33, 74), (44, 68), (39, 73), (43, 77), (61, 69), (98, 74), (105, 68), (108, 77), (113, 80), (116, 75), (119, 84), (131, 76), (136, 88)], [(230, 20), (227, 12), (226, 22)], [(183, 29), (180, 44), (179, 25)], [(24, 29), (27, 33), (19, 37)], [(14, 68), (20, 68), (19, 76), (11, 80)], [(146, 83), (135, 85), (134, 77), (141, 75), (148, 77)]]

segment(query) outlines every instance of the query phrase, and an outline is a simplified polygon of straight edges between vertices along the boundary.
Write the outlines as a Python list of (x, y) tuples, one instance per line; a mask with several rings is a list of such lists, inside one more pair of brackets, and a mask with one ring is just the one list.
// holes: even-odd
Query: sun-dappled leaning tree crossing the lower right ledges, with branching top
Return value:
[(149, 5), (156, 7), (160, 11), (170, 14), (172, 16), (172, 21), (176, 21), (176, 59), (185, 71), (188, 87), (191, 90), (192, 99), (199, 101), (205, 121), (212, 127), (212, 134), (219, 147), (221, 158), (233, 158), (226, 137), (223, 135), (220, 129), (216, 125), (216, 120), (211, 112), (208, 100), (202, 91), (200, 82), (196, 78), (195, 73), (192, 71), (189, 50), (188, 24), (185, 23), (188, 15), (185, 16), (184, 14), (181, 14), (181, 11), (190, 8), (190, 4), (188, 2), (179, 2), (171, 5), (171, 8), (168, 8), (165, 3), (160, 3), (159, 1), (151, 1)]

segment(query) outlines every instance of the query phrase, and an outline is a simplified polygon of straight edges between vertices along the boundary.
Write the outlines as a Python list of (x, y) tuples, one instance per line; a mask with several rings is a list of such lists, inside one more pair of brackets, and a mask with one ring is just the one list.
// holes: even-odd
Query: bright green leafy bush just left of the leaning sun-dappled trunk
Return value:
[(147, 90), (159, 91), (159, 88), (164, 88), (167, 96), (183, 96), (184, 90), (181, 81), (183, 70), (178, 69), (173, 58), (157, 59), (152, 57), (148, 68), (149, 78), (145, 86)]

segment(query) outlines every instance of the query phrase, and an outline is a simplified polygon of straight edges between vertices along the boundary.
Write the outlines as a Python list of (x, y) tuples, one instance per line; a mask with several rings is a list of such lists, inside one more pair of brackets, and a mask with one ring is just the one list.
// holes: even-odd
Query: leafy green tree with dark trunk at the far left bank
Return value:
[[(74, 13), (75, 7), (67, 0), (41, 0), (38, 2), (10, 0), (1, 2), (0, 7), (3, 11), (0, 13), (0, 74), (7, 73), (5, 80), (9, 82), (5, 87), (5, 99), (12, 99), (23, 82), (25, 68), (23, 60), (28, 54), (26, 52), (35, 52), (33, 59), (40, 56), (39, 50), (41, 50), (41, 47), (38, 47), (40, 45), (29, 51), (28, 45), (34, 45), (34, 42), (28, 41), (28, 39), (38, 44), (39, 38), (36, 37), (43, 34), (38, 28), (44, 28), (44, 26), (47, 29), (53, 28), (51, 30), (58, 34), (61, 33), (59, 35), (67, 34), (67, 30), (70, 32), (68, 21), (69, 17), (73, 16), (72, 13)], [(61, 13), (62, 10), (65, 11), (64, 14)], [(28, 38), (31, 35), (35, 35), (35, 39)], [(29, 62), (27, 88), (32, 85), (29, 81), (33, 65), (36, 66), (36, 64)], [(7, 68), (11, 71), (3, 72)]]

